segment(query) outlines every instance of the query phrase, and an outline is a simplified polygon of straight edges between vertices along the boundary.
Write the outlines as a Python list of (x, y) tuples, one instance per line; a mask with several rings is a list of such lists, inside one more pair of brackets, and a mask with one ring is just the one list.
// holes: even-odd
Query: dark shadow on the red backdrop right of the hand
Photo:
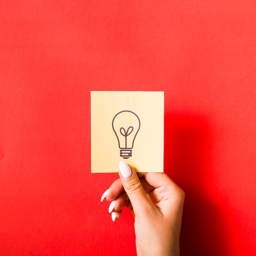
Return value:
[[(225, 214), (213, 202), (211, 129), (203, 117), (165, 117), (164, 170), (186, 194), (181, 256), (227, 256)], [(208, 186), (207, 186), (208, 185)]]

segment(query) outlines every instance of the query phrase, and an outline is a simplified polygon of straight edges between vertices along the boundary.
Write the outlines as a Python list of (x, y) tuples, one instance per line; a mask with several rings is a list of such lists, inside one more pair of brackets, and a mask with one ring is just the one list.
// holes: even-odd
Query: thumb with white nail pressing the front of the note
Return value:
[(149, 209), (153, 208), (153, 204), (148, 199), (135, 170), (126, 162), (120, 161), (119, 176), (130, 199), (135, 216), (145, 216)]

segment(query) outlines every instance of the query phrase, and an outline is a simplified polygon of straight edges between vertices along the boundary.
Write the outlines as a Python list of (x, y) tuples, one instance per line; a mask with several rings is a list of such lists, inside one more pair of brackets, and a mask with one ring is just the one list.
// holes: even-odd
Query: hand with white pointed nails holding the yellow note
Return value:
[(123, 207), (135, 218), (137, 255), (180, 255), (180, 229), (184, 192), (166, 173), (136, 173), (119, 163), (119, 179), (102, 195), (112, 201), (112, 220), (119, 219)]

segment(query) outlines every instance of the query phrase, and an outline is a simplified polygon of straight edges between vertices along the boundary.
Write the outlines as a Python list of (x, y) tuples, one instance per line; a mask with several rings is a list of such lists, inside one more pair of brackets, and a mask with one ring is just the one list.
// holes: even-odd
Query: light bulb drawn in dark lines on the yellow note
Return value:
[(112, 128), (117, 136), (120, 157), (128, 159), (132, 156), (135, 137), (139, 132), (139, 117), (130, 110), (124, 110), (113, 118)]

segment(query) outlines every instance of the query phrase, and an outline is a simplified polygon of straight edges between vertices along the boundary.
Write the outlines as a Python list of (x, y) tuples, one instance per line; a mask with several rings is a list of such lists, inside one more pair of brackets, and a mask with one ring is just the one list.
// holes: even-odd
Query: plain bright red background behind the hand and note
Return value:
[(0, 254), (135, 255), (130, 213), (112, 222), (100, 203), (116, 176), (90, 173), (90, 90), (157, 90), (164, 169), (186, 193), (181, 255), (256, 255), (255, 13), (2, 0)]

